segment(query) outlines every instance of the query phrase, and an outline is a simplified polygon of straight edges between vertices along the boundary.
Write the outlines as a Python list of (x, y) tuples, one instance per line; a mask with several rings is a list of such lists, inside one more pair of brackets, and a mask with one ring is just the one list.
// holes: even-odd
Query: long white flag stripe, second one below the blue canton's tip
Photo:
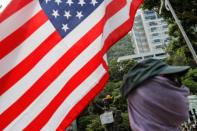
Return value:
[(100, 48), (97, 46), (99, 44), (101, 44), (101, 36), (86, 48), (5, 131), (25, 128), (59, 93), (70, 78), (100, 51)]

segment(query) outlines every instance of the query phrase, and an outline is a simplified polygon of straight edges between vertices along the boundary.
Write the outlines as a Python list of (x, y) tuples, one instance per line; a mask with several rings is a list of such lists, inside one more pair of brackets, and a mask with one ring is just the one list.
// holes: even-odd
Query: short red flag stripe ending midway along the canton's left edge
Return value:
[(10, 53), (17, 46), (27, 39), (34, 31), (36, 31), (42, 24), (48, 20), (43, 11), (40, 11), (28, 22), (26, 22), (19, 29), (14, 31), (11, 35), (2, 40), (0, 45), (0, 59)]

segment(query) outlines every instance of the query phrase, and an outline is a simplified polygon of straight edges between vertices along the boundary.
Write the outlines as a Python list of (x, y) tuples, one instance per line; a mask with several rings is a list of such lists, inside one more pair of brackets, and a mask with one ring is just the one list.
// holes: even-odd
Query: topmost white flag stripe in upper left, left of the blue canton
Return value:
[(8, 17), (0, 24), (0, 41), (17, 30), (25, 22), (30, 20), (32, 16), (37, 14), (41, 10), (40, 4), (37, 0), (33, 0), (31, 3)]

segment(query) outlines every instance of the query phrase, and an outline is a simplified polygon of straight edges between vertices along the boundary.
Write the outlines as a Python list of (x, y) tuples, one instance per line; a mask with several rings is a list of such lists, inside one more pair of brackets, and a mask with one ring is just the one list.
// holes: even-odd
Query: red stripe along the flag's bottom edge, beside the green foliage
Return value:
[(99, 83), (91, 89), (90, 92), (87, 93), (73, 108), (72, 110), (66, 115), (64, 120), (61, 122), (59, 127), (56, 131), (63, 131), (65, 130), (73, 120), (75, 120), (83, 111), (83, 109), (88, 106), (89, 102), (101, 92), (109, 78), (109, 74), (106, 73), (103, 78), (99, 81)]

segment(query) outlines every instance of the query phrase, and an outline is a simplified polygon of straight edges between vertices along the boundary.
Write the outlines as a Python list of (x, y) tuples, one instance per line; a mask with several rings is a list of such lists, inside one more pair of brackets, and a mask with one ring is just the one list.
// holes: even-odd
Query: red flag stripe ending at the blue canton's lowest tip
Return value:
[(4, 75), (0, 79), (0, 95), (3, 95), (3, 93), (28, 73), (60, 40), (62, 40), (62, 37), (59, 33), (52, 33), (35, 51)]

